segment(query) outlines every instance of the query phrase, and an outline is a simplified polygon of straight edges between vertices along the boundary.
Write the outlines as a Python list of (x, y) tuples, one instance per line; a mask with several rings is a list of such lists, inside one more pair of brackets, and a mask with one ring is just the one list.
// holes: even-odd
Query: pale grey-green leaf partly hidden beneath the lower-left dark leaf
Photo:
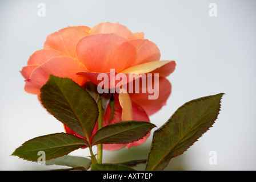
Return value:
[(47, 160), (46, 165), (69, 166), (74, 169), (87, 170), (91, 166), (91, 160), (79, 156), (65, 155), (60, 158)]

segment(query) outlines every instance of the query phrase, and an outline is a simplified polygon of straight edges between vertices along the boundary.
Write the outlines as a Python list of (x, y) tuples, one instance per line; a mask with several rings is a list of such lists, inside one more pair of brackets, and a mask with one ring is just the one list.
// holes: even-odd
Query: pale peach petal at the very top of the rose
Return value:
[(122, 24), (117, 23), (99, 23), (89, 31), (90, 34), (111, 34), (122, 36), (126, 39), (135, 39), (134, 34)]

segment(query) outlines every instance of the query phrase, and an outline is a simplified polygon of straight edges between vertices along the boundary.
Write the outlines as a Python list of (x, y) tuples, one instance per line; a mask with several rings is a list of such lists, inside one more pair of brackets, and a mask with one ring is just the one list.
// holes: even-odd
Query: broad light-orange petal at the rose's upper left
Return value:
[(89, 33), (81, 28), (63, 28), (48, 35), (43, 48), (55, 49), (64, 53), (66, 56), (75, 57), (75, 46), (77, 45), (78, 40), (87, 35), (89, 35)]

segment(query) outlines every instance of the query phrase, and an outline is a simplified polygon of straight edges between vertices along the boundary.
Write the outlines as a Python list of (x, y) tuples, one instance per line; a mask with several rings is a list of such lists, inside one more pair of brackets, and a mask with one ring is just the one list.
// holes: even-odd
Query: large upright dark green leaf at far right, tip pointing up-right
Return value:
[(187, 102), (155, 130), (146, 170), (163, 170), (209, 130), (219, 114), (222, 96), (220, 93)]

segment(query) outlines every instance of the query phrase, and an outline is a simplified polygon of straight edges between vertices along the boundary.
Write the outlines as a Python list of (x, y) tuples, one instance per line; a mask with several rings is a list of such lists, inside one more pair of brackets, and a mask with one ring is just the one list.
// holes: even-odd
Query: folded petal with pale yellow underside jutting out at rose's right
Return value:
[(175, 65), (175, 61), (151, 61), (127, 68), (121, 73), (159, 73), (160, 77), (166, 77), (174, 71)]

